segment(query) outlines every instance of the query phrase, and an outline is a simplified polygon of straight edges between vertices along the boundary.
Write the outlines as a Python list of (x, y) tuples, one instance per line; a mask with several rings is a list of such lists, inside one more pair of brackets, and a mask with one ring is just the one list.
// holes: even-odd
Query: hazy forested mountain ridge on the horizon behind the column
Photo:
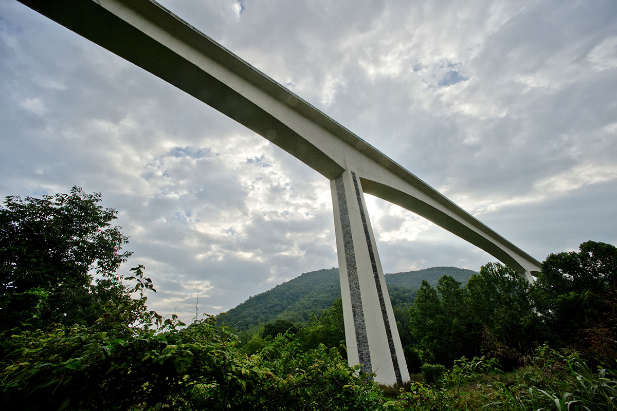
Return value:
[[(456, 267), (432, 267), (386, 274), (385, 277), (392, 305), (407, 306), (413, 302), (422, 280), (435, 286), (443, 275), (450, 275), (465, 285), (472, 274), (474, 271)], [(252, 296), (218, 318), (239, 331), (275, 319), (298, 323), (308, 320), (311, 314), (320, 315), (338, 298), (341, 298), (338, 269), (322, 269), (304, 273), (265, 293)]]

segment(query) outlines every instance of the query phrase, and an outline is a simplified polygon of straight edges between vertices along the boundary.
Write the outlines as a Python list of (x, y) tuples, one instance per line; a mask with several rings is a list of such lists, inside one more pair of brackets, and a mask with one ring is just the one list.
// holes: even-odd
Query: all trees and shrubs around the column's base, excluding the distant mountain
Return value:
[(0, 208), (2, 409), (616, 409), (615, 246), (550, 254), (534, 285), (500, 264), (421, 282), (402, 335), (421, 375), (399, 393), (347, 366), (340, 299), (242, 341), (149, 311), (152, 282), (117, 273), (127, 238), (99, 202), (76, 187)]

